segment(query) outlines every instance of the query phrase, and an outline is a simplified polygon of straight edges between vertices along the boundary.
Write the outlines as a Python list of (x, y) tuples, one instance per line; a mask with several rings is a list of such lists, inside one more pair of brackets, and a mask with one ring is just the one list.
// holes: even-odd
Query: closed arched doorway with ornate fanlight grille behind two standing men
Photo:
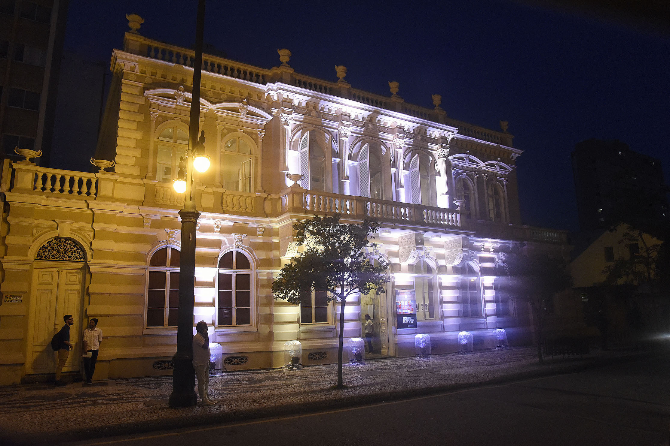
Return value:
[(52, 373), (56, 369), (51, 338), (63, 326), (63, 316), (72, 314), (70, 352), (64, 372), (78, 370), (80, 334), (83, 331), (86, 253), (81, 245), (66, 237), (47, 240), (35, 255), (31, 282), (26, 374)]

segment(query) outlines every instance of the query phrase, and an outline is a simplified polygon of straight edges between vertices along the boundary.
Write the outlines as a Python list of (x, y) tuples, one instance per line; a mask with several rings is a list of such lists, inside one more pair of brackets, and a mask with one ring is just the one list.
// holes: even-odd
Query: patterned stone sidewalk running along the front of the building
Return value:
[[(549, 358), (539, 366), (535, 348), (511, 348), (432, 358), (387, 358), (344, 366), (347, 388), (334, 390), (336, 365), (302, 370), (253, 370), (212, 376), (218, 404), (170, 409), (172, 376), (0, 387), (0, 432), (20, 444), (103, 437), (373, 403), (454, 388), (569, 372), (634, 358), (634, 352), (601, 352)], [(54, 419), (60, 419), (54, 423)], [(58, 435), (58, 437), (56, 437)], [(2, 439), (2, 437), (0, 437)], [(1, 441), (0, 441), (1, 443)]]

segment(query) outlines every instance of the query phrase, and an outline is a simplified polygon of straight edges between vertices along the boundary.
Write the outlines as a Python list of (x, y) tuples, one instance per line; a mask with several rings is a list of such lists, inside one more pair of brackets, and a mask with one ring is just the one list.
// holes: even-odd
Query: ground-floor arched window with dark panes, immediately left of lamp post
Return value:
[(151, 255), (147, 280), (147, 328), (177, 326), (179, 261), (180, 252), (176, 247), (164, 247)]

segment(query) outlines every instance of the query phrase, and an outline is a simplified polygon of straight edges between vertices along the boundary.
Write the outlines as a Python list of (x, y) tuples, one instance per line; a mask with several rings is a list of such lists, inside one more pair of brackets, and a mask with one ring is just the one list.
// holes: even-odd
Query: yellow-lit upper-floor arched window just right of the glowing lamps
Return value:
[(221, 184), (224, 189), (251, 192), (252, 173), (249, 143), (237, 135), (226, 139), (221, 152)]

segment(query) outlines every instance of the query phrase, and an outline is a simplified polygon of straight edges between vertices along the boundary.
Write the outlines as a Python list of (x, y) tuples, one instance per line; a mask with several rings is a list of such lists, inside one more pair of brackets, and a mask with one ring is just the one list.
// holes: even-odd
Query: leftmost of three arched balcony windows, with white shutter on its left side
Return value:
[(299, 169), (304, 179), (300, 186), (312, 191), (327, 191), (328, 158), (326, 157), (326, 134), (310, 130), (300, 140)]

